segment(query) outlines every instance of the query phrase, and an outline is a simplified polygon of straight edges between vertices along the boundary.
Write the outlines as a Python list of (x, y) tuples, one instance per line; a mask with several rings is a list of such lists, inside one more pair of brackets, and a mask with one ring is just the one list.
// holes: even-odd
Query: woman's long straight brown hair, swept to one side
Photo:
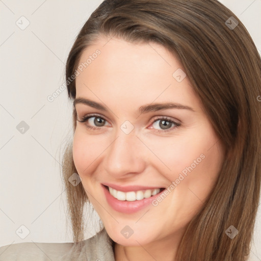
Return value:
[[(176, 260), (247, 260), (261, 184), (261, 103), (257, 99), (261, 63), (246, 28), (216, 0), (107, 0), (77, 35), (68, 56), (66, 79), (77, 69), (84, 49), (99, 36), (156, 42), (175, 54), (225, 147), (217, 183), (191, 220)], [(74, 99), (74, 80), (67, 81), (67, 89), (69, 98)], [(73, 124), (75, 131), (75, 109)], [(80, 241), (88, 198), (81, 183), (73, 187), (68, 182), (74, 172), (69, 144), (63, 176), (74, 241)], [(225, 233), (231, 225), (239, 230), (233, 239)]]

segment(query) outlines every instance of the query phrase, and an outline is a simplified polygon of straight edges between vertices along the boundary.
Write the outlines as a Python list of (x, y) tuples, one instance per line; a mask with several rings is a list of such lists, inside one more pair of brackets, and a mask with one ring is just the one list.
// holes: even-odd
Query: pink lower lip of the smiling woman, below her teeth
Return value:
[(151, 202), (154, 199), (159, 197), (162, 192), (164, 192), (164, 190), (163, 190), (162, 192), (160, 192), (152, 197), (144, 198), (141, 200), (127, 201), (127, 200), (118, 200), (117, 198), (113, 197), (110, 194), (107, 187), (105, 187), (104, 185), (101, 185), (101, 187), (105, 193), (105, 196), (106, 196), (106, 199), (107, 199), (109, 205), (114, 210), (121, 212), (121, 213), (126, 213), (126, 214), (131, 214), (131, 213), (135, 213), (135, 212), (142, 210), (143, 208), (145, 208), (146, 206), (151, 204)]

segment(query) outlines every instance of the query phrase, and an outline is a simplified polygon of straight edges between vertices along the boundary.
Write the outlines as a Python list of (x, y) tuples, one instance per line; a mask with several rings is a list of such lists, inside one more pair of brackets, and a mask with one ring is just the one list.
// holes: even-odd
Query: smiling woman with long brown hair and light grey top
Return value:
[[(66, 64), (75, 243), (5, 246), (0, 260), (248, 260), (260, 72), (244, 25), (216, 0), (103, 2)], [(87, 202), (104, 227), (83, 241)]]

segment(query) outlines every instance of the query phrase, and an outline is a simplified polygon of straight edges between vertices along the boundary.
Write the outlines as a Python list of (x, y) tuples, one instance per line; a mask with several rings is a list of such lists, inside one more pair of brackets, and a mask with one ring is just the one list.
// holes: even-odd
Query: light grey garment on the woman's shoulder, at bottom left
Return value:
[(76, 243), (16, 243), (0, 247), (0, 261), (115, 261), (105, 228)]

